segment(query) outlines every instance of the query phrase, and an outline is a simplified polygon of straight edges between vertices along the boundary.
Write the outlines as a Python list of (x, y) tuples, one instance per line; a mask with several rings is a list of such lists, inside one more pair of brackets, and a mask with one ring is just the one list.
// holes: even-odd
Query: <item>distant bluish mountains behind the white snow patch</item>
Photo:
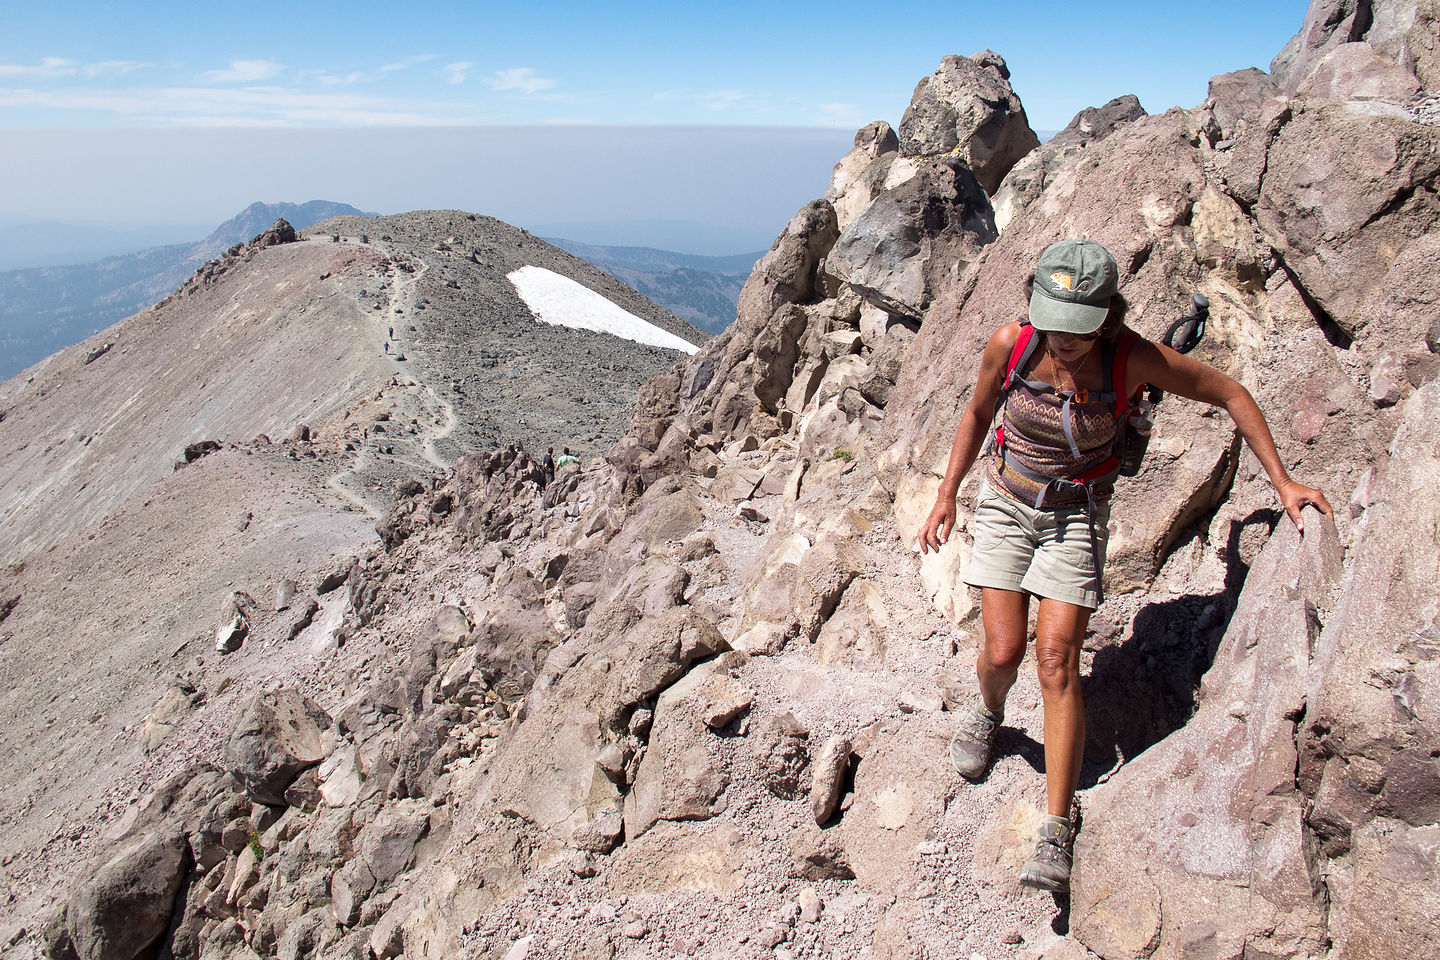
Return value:
[(707, 334), (719, 334), (734, 320), (740, 288), (755, 262), (765, 255), (698, 256), (648, 246), (598, 246), (560, 237), (544, 240), (599, 266)]

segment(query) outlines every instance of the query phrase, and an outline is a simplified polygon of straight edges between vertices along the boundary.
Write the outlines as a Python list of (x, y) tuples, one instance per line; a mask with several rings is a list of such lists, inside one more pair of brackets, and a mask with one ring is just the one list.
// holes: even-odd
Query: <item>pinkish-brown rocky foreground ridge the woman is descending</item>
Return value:
[[(861, 130), (736, 324), (645, 384), (603, 463), (543, 495), (503, 452), (408, 484), (383, 550), (315, 597), (340, 633), (278, 643), (265, 678), (177, 682), (150, 792), (114, 809), (59, 911), (26, 901), (13, 947), (1424, 953), (1440, 128), (1414, 37), (1434, 22), (1316, 0), (1269, 76), (1215, 78), (1195, 109), (1079, 117), (1084, 135), (989, 187), (1004, 220), (971, 158)], [(917, 91), (965, 118), (956, 142), (1024, 124), (996, 60), (948, 58), (962, 79)], [(936, 109), (937, 89), (955, 102)], [(1205, 292), (1201, 356), (1338, 510), (1302, 537), (1223, 415), (1165, 402), (1117, 491), (1079, 868), (1053, 901), (1015, 882), (1043, 803), (1038, 688), (1022, 676), (994, 770), (960, 784), (945, 740), (973, 697), (969, 545), (917, 560), (910, 538), (979, 345), (1061, 236), (1116, 252), (1142, 332)], [(143, 937), (112, 921), (131, 889), (164, 907)]]

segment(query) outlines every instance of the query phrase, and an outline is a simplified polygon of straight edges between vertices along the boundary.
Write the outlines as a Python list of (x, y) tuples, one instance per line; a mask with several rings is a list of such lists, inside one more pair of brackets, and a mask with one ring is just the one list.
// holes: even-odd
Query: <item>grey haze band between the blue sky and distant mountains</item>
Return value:
[[(567, 236), (687, 253), (769, 246), (824, 196), (852, 132), (775, 127), (481, 127), (376, 130), (26, 131), (0, 154), (7, 183), (63, 178), (12, 197), (14, 223), (207, 225), (251, 203), (334, 200), (403, 213), (462, 209), (534, 233), (552, 225), (697, 223), (711, 237)], [(107, 163), (96, 168), (94, 157)], [(199, 239), (203, 233), (194, 236)], [(714, 237), (733, 237), (719, 243)]]

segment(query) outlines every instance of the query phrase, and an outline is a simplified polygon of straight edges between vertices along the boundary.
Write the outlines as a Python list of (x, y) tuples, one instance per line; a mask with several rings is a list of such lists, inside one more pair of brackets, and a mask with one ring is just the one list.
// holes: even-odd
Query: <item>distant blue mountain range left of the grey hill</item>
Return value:
[[(344, 214), (369, 216), (348, 203), (328, 200), (252, 203), (199, 242), (154, 246), (78, 266), (0, 272), (0, 380), (145, 309), (206, 261), (245, 243), (279, 217), (298, 230)], [(23, 242), (26, 229), (9, 227), (6, 239)], [(19, 237), (12, 237), (17, 230)], [(46, 229), (42, 233), (52, 236)]]

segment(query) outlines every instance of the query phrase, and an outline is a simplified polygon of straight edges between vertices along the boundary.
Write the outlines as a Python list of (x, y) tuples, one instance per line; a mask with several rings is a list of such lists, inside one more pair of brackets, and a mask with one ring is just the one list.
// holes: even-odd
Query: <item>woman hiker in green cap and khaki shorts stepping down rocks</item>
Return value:
[[(960, 479), (982, 455), (991, 420), (1001, 413), (995, 443), (984, 452), (975, 547), (965, 571), (965, 583), (981, 589), (985, 638), (975, 664), (981, 702), (962, 720), (950, 759), (968, 780), (985, 774), (1005, 720), (1005, 695), (1025, 658), (1030, 599), (1038, 597), (1035, 662), (1045, 711), (1048, 816), (1020, 879), (1050, 891), (1070, 884), (1070, 816), (1084, 751), (1080, 648), (1103, 599), (1110, 494), (1122, 459), (1133, 462), (1133, 452), (1122, 455), (1128, 425), (1148, 412), (1142, 394), (1153, 402), (1165, 390), (1224, 407), (1296, 527), (1303, 528), (1306, 505), (1332, 512), (1320, 491), (1286, 474), (1248, 390), (1125, 325), (1117, 282), (1115, 258), (1099, 243), (1063, 240), (1040, 255), (1030, 317), (1001, 327), (985, 347), (935, 508), (917, 533), (922, 551), (949, 540)], [(1184, 348), (1189, 345), (1194, 341)]]

